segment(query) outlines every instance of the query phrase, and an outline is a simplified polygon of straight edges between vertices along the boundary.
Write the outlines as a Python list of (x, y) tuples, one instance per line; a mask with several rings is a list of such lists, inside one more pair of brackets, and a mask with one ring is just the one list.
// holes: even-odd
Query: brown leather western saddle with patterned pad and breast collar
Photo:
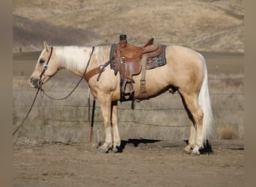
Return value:
[[(165, 46), (154, 44), (153, 38), (151, 38), (144, 46), (138, 47), (127, 43), (127, 35), (121, 34), (119, 43), (112, 44), (110, 52), (110, 60), (103, 65), (102, 68), (97, 67), (95, 70), (91, 70), (85, 75), (85, 79), (91, 78), (91, 76), (100, 73), (97, 80), (99, 80), (101, 73), (105, 70), (108, 64), (111, 64), (111, 68), (115, 71), (115, 76), (119, 72), (120, 74), (120, 88), (121, 99), (120, 101), (134, 100), (134, 87), (135, 83), (132, 76), (136, 76), (141, 73), (140, 91), (137, 99), (149, 99), (146, 90), (146, 70), (153, 69), (158, 66), (162, 66), (165, 63)], [(160, 64), (157, 64), (157, 57), (161, 56)], [(96, 70), (98, 69), (98, 70)]]

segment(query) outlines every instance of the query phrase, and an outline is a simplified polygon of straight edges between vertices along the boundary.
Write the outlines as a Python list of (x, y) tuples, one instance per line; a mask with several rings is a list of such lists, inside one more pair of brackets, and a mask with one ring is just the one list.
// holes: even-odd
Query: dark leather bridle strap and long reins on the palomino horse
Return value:
[[(94, 53), (94, 46), (93, 46), (93, 49), (91, 50), (90, 58), (89, 58), (88, 63), (87, 63), (87, 65), (86, 65), (86, 67), (85, 67), (85, 73), (86, 73), (86, 71), (87, 71), (87, 69), (88, 69), (88, 67), (89, 67), (89, 63), (90, 63), (90, 61), (91, 61), (91, 56), (93, 55), (93, 53)], [(51, 57), (51, 55), (52, 55), (52, 50), (51, 50), (51, 54), (50, 54), (49, 58)], [(48, 61), (47, 61), (47, 65), (48, 65), (48, 62), (49, 62), (49, 59), (48, 59)], [(46, 71), (46, 69), (44, 68), (43, 71)], [(44, 73), (44, 72), (43, 72), (43, 73)], [(43, 73), (40, 74), (40, 78), (43, 76)], [(36, 93), (36, 95), (34, 96), (34, 100), (33, 100), (32, 104), (31, 104), (31, 107), (30, 107), (29, 110), (28, 110), (28, 113), (25, 115), (24, 119), (22, 120), (22, 123), (20, 123), (19, 126), (16, 128), (16, 130), (13, 132), (13, 135), (16, 134), (16, 132), (19, 130), (19, 128), (23, 125), (23, 123), (24, 123), (25, 120), (27, 119), (28, 114), (31, 112), (31, 109), (32, 109), (33, 106), (34, 106), (34, 102), (35, 102), (36, 99), (37, 99), (37, 95), (38, 95), (39, 91), (42, 91), (42, 92), (43, 92), (46, 96), (48, 96), (50, 99), (55, 99), (55, 100), (67, 99), (67, 97), (69, 97), (69, 96), (76, 90), (76, 88), (78, 87), (79, 83), (80, 83), (80, 82), (82, 81), (82, 79), (84, 78), (85, 73), (83, 74), (83, 76), (82, 76), (81, 79), (79, 80), (78, 84), (76, 84), (75, 88), (73, 88), (73, 91), (71, 91), (67, 96), (65, 96), (65, 97), (63, 97), (63, 98), (53, 98), (52, 96), (47, 95), (47, 94), (45, 93), (45, 91), (43, 91), (42, 85), (40, 85), (40, 87), (37, 89), (37, 93)]]

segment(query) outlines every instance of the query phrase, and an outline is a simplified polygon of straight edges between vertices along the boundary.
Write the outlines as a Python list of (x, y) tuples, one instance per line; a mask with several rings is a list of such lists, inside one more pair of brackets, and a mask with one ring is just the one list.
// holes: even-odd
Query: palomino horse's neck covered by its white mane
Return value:
[(58, 46), (56, 58), (59, 69), (66, 69), (82, 76), (91, 55), (92, 47), (87, 46)]

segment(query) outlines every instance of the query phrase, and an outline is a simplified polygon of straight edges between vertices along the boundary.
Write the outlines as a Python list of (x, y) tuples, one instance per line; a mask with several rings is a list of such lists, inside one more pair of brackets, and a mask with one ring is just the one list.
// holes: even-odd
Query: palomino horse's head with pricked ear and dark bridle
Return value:
[(59, 70), (53, 47), (49, 47), (46, 42), (43, 42), (43, 46), (44, 49), (29, 79), (29, 83), (33, 88), (40, 88)]

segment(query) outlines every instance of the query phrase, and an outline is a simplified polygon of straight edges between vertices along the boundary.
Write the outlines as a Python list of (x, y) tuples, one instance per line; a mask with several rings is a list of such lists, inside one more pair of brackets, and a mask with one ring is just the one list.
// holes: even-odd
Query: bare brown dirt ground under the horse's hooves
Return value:
[(13, 186), (243, 186), (238, 141), (213, 143), (213, 154), (183, 153), (185, 143), (122, 141), (122, 153), (96, 144), (13, 144)]

